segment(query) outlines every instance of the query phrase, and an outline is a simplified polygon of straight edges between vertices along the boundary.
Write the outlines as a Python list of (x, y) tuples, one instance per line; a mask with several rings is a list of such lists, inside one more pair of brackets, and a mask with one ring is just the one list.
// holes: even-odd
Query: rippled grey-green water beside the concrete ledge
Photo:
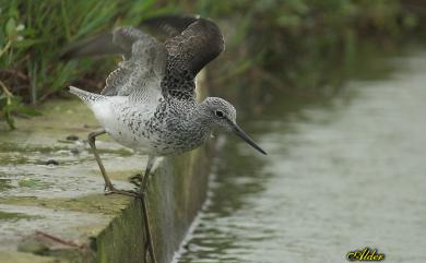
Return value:
[(269, 155), (221, 141), (178, 262), (333, 263), (365, 247), (426, 262), (426, 50), (372, 61), (330, 96), (275, 91), (244, 117)]

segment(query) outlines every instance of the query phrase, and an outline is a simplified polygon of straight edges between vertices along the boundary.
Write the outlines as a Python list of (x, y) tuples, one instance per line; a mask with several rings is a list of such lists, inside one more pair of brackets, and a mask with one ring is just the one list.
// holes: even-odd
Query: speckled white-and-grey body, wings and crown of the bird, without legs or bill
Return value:
[(120, 144), (151, 155), (198, 147), (235, 109), (224, 99), (196, 100), (197, 73), (223, 50), (217, 26), (197, 19), (181, 34), (159, 43), (133, 27), (113, 33), (123, 61), (106, 80), (100, 95), (70, 87), (94, 111), (106, 132)]

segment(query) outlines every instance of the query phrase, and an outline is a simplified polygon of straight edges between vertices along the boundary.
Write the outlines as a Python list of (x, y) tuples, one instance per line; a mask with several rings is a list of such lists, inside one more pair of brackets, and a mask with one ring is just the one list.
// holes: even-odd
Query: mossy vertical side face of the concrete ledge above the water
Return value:
[[(206, 196), (212, 145), (164, 158), (147, 189), (158, 262), (170, 262)], [(96, 262), (141, 262), (145, 256), (142, 204), (133, 200), (95, 241)]]

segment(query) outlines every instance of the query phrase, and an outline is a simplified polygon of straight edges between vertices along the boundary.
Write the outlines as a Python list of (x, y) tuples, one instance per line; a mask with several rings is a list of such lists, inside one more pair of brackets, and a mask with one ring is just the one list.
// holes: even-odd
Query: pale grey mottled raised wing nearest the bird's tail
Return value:
[(102, 95), (128, 96), (143, 99), (159, 92), (164, 79), (167, 50), (154, 37), (134, 28), (114, 31), (113, 44), (123, 53), (123, 61), (113, 71)]

